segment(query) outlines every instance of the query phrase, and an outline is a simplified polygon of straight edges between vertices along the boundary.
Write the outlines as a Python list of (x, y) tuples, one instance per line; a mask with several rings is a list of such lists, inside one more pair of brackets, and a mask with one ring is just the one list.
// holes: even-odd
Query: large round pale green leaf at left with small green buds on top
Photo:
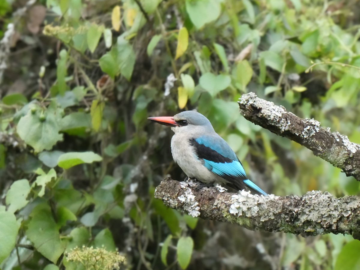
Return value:
[(34, 148), (35, 152), (50, 150), (63, 139), (63, 135), (59, 134), (58, 118), (59, 116), (49, 109), (40, 112), (39, 108), (32, 108), (20, 118), (17, 132), (26, 144)]

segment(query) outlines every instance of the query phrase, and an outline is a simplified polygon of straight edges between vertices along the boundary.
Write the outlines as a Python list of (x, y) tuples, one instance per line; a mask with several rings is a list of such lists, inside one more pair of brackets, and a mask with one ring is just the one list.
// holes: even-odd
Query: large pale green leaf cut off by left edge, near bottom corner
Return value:
[(20, 224), (12, 212), (0, 210), (0, 264), (15, 247)]

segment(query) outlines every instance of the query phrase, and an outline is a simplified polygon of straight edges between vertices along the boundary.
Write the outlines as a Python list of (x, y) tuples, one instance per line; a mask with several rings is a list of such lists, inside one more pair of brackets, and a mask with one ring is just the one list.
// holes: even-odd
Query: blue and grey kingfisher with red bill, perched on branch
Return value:
[(234, 151), (201, 113), (184, 111), (173, 117), (148, 117), (148, 120), (171, 127), (175, 133), (171, 138), (172, 157), (186, 176), (203, 183), (201, 187), (216, 183), (236, 192), (249, 190), (267, 195), (248, 179)]

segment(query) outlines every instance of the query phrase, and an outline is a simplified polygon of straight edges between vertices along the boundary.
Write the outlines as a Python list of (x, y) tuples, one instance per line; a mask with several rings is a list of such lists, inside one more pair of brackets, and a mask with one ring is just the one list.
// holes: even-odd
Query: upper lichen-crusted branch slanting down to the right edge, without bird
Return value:
[(352, 143), (347, 136), (330, 132), (319, 121), (287, 112), (283, 106), (260, 99), (255, 93), (242, 95), (238, 103), (240, 113), (247, 120), (309, 148), (316, 156), (360, 181), (360, 145)]

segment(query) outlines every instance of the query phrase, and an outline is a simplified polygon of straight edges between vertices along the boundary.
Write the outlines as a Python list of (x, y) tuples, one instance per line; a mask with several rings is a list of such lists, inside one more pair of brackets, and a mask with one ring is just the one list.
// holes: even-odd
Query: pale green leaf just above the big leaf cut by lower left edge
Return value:
[(30, 184), (27, 179), (15, 181), (6, 194), (6, 204), (9, 205), (8, 211), (14, 213), (23, 208), (29, 202), (26, 198), (30, 192)]

